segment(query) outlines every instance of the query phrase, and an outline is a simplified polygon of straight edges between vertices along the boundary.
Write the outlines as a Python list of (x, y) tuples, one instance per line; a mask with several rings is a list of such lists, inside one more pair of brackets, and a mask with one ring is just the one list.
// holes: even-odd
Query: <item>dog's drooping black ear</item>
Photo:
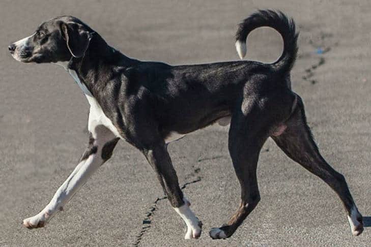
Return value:
[(61, 29), (72, 56), (82, 57), (89, 47), (92, 34), (83, 25), (75, 22), (63, 23)]

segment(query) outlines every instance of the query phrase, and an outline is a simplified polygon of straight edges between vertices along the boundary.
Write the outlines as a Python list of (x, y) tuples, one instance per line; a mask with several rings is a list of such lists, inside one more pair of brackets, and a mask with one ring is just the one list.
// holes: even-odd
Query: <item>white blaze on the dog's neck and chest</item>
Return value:
[(112, 124), (112, 121), (104, 114), (102, 107), (99, 105), (98, 101), (94, 98), (88, 87), (80, 81), (76, 74), (76, 71), (68, 70), (68, 72), (73, 77), (77, 85), (81, 88), (82, 92), (84, 93), (85, 97), (87, 97), (88, 102), (90, 104), (88, 122), (89, 131), (93, 132), (96, 126), (103, 125), (107, 129), (109, 129), (113, 134), (115, 134), (115, 136), (121, 138), (121, 135), (117, 128)]

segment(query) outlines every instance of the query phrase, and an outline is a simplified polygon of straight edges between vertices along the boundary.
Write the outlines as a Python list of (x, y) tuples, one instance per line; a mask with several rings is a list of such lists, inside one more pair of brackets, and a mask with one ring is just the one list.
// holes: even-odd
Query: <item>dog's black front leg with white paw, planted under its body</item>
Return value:
[(182, 190), (179, 187), (177, 173), (174, 170), (165, 143), (159, 142), (151, 145), (150, 148), (144, 151), (144, 154), (152, 168), (156, 171), (162, 189), (170, 204), (172, 204), (175, 211), (187, 225), (187, 233), (184, 238), (191, 239), (201, 236), (202, 223), (189, 208), (190, 203), (188, 200), (183, 197)]

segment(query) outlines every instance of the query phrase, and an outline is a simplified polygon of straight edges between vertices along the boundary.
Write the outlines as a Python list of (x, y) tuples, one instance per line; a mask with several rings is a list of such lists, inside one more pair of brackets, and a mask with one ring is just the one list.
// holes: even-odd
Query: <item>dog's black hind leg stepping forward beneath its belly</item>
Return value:
[[(246, 104), (242, 104), (246, 105)], [(241, 186), (241, 203), (230, 221), (220, 228), (212, 228), (213, 239), (232, 236), (247, 215), (258, 205), (260, 193), (256, 179), (256, 166), (260, 150), (269, 137), (269, 114), (258, 104), (236, 109), (232, 115), (229, 131), (229, 151)]]

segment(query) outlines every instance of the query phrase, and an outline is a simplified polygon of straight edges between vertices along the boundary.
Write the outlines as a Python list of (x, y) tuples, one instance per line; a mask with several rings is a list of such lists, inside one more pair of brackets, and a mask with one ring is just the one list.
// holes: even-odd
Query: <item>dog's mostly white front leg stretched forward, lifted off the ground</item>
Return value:
[(44, 227), (56, 212), (63, 210), (64, 205), (72, 198), (88, 178), (110, 158), (113, 148), (119, 138), (116, 138), (104, 126), (96, 126), (91, 131), (89, 146), (71, 175), (56, 191), (49, 204), (34, 217), (23, 220), (23, 226), (28, 229)]

